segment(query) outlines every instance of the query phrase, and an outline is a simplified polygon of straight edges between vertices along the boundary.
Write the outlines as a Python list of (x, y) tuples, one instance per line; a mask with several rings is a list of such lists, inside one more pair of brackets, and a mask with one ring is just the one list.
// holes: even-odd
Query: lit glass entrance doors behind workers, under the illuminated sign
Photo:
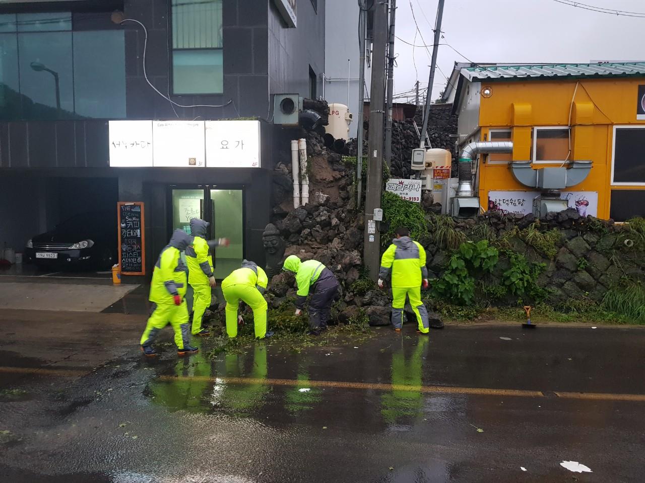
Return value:
[(208, 239), (228, 238), (230, 246), (215, 250), (215, 278), (239, 269), (244, 258), (244, 204), (242, 189), (204, 186), (172, 189), (172, 230), (190, 233), (190, 218), (210, 222)]

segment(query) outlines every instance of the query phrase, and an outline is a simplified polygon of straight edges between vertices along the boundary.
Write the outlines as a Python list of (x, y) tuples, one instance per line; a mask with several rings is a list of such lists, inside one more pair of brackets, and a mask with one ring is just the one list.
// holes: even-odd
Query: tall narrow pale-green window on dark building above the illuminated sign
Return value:
[(223, 0), (172, 0), (172, 88), (175, 94), (224, 92)]

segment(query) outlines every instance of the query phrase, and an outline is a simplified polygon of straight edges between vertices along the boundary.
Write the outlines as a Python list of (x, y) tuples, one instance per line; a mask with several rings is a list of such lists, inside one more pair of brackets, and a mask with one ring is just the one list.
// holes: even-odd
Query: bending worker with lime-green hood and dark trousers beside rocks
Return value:
[(323, 263), (316, 260), (301, 261), (295, 255), (284, 260), (283, 270), (295, 273), (298, 285), (298, 298), (295, 301), (297, 316), (301, 314), (310, 290), (313, 290), (309, 300), (309, 335), (319, 336), (332, 317), (332, 303), (338, 292), (336, 276)]

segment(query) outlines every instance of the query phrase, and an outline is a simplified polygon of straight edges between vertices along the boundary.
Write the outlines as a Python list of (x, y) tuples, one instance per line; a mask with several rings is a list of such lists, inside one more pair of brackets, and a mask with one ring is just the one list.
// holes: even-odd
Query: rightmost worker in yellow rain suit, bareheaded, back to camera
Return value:
[(428, 288), (428, 269), (426, 269), (426, 251), (421, 243), (413, 242), (407, 228), (399, 228), (392, 245), (388, 247), (381, 258), (379, 270), (379, 287), (383, 281), (392, 276), (392, 325), (394, 330), (401, 332), (403, 325), (403, 308), (406, 296), (419, 328), (419, 334), (428, 334), (428, 310), (421, 301), (421, 285)]

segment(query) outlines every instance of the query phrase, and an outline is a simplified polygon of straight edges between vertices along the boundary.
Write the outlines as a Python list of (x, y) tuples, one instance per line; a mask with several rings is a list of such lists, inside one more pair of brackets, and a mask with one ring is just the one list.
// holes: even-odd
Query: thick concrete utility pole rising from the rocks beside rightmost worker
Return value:
[(370, 278), (379, 278), (381, 235), (375, 228), (374, 209), (381, 208), (383, 184), (383, 126), (385, 118), (385, 50), (388, 37), (388, 1), (374, 2), (374, 41), (372, 50), (372, 86), (370, 89), (370, 139), (368, 142), (367, 191), (363, 265)]

